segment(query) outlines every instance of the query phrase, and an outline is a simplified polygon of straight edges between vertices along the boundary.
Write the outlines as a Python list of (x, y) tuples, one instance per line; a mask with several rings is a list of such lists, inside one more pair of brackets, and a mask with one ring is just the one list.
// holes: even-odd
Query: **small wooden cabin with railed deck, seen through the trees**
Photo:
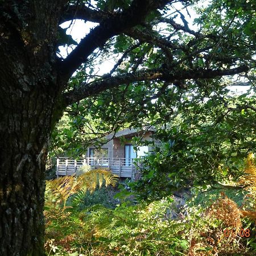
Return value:
[(93, 144), (88, 147), (86, 155), (80, 159), (57, 158), (56, 175), (72, 175), (82, 165), (89, 165), (93, 168), (108, 168), (113, 174), (119, 177), (130, 177), (134, 179), (137, 174), (139, 158), (151, 151), (148, 146), (139, 146), (135, 150), (132, 144), (133, 137), (142, 137), (142, 140), (151, 141), (153, 130), (138, 131), (125, 129), (105, 138), (109, 140), (100, 149)]

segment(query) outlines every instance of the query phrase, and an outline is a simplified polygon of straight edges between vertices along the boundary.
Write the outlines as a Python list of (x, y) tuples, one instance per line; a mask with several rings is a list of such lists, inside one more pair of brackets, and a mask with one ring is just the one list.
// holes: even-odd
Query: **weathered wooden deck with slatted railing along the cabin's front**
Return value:
[(57, 158), (56, 175), (65, 176), (76, 174), (81, 166), (88, 165), (94, 168), (109, 168), (113, 174), (119, 177), (134, 178), (136, 166), (134, 159), (125, 158), (81, 158), (78, 160)]

